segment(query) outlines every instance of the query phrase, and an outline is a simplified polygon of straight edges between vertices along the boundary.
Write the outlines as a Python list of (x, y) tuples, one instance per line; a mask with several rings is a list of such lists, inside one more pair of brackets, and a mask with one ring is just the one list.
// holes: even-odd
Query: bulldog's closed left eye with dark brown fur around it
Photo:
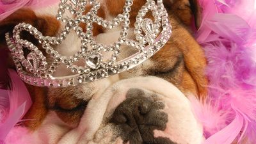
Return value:
[(86, 95), (80, 87), (52, 88), (47, 95), (48, 109), (54, 111), (63, 122), (76, 127), (83, 116), (88, 100), (76, 95)]

